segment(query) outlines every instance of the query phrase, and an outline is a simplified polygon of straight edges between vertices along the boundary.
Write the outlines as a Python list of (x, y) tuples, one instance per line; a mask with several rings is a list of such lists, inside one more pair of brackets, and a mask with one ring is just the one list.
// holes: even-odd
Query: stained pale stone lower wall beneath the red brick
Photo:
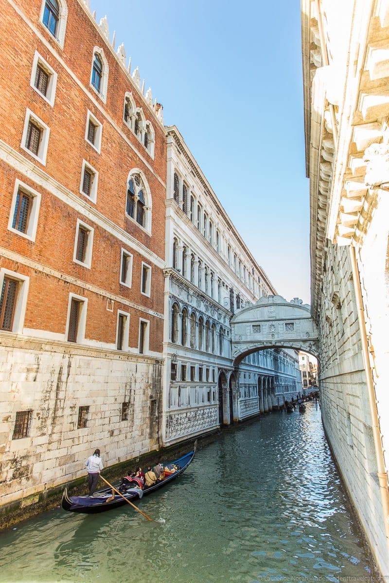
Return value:
[[(104, 466), (159, 447), (162, 361), (6, 336), (0, 360), (2, 504), (84, 476), (97, 447)], [(28, 437), (10, 440), (26, 409)]]

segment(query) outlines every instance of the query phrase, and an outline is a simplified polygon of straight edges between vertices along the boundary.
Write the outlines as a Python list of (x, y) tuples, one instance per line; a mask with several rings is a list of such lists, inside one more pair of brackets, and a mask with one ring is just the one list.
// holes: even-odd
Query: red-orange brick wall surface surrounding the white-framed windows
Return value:
[[(164, 198), (166, 182), (166, 139), (163, 127), (149, 110), (138, 90), (128, 79), (120, 63), (111, 53), (96, 26), (85, 14), (76, 0), (68, 0), (64, 50), (52, 39), (43, 24), (38, 22), (41, 2), (19, 0), (27, 20), (63, 59), (76, 78), (83, 83), (86, 94), (69, 75), (66, 68), (31, 30), (29, 24), (9, 5), (3, 6), (0, 36), (3, 40), (0, 61), (0, 139), (22, 154), (24, 159), (40, 168), (60, 185), (76, 195), (85, 208), (96, 209), (119, 229), (127, 231), (139, 243), (145, 245), (159, 258), (164, 258)], [(93, 47), (103, 48), (108, 60), (107, 103), (96, 96), (89, 85), (93, 59)], [(54, 107), (51, 107), (30, 87), (34, 52), (39, 54), (58, 74)], [(155, 130), (154, 160), (145, 147), (132, 134), (123, 121), (124, 94), (132, 92), (137, 106), (143, 107), (146, 119)], [(96, 105), (97, 103), (97, 105)], [(50, 127), (47, 162), (43, 166), (20, 147), (26, 108), (30, 108)], [(98, 154), (85, 141), (87, 109), (103, 124), (101, 153)], [(112, 120), (112, 121), (111, 121)], [(115, 127), (117, 126), (117, 127)], [(125, 136), (125, 137), (124, 137)], [(134, 152), (127, 141), (138, 153)], [(82, 160), (85, 159), (97, 171), (99, 181), (96, 204), (80, 194)], [(145, 160), (145, 161), (143, 161)], [(152, 233), (146, 233), (138, 224), (125, 217), (127, 177), (132, 168), (140, 168), (148, 181), (152, 194)], [(15, 179), (19, 178), (41, 193), (40, 213), (36, 241), (32, 243), (7, 230)], [(53, 268), (82, 282), (99, 287), (107, 294), (116, 294), (146, 308), (163, 312), (163, 272), (150, 259), (135, 251), (131, 241), (120, 241), (115, 234), (103, 229), (77, 212), (72, 205), (61, 201), (50, 188), (36, 184), (33, 179), (16, 171), (12, 164), (0, 163), (0, 245), (31, 259), (47, 268)], [(94, 229), (92, 267), (87, 269), (73, 262), (75, 229), (77, 219)], [(132, 287), (120, 285), (121, 248), (134, 256)], [(141, 263), (152, 266), (151, 297), (141, 294)], [(115, 301), (114, 311), (106, 309), (105, 293), (96, 294), (82, 285), (61, 281), (51, 275), (3, 260), (1, 266), (30, 276), (29, 296), (24, 326), (64, 333), (68, 310), (69, 293), (88, 298), (86, 338), (101, 342), (114, 342), (117, 310), (130, 312), (131, 347), (138, 346), (139, 317), (150, 320), (150, 350), (162, 350), (162, 319), (129, 308)]]

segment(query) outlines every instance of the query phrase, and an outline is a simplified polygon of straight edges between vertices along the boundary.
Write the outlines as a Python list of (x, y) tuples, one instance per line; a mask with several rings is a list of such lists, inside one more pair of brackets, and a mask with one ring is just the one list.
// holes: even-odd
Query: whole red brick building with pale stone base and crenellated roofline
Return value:
[(162, 107), (81, 0), (3, 3), (2, 504), (157, 447)]

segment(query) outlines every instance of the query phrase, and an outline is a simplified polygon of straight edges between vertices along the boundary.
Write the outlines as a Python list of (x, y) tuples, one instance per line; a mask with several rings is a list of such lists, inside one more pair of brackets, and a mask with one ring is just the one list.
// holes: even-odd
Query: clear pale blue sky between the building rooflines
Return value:
[(90, 0), (277, 291), (310, 302), (299, 0)]

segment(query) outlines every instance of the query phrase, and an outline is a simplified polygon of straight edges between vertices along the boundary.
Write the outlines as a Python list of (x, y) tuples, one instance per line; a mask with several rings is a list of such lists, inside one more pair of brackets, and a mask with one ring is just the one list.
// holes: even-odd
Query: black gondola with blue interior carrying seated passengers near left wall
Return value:
[[(193, 461), (196, 452), (196, 443), (193, 451), (188, 454), (183, 455), (181, 458), (174, 460), (174, 462), (165, 463), (164, 466), (176, 466), (177, 470), (170, 476), (165, 477), (160, 482), (153, 484), (153, 486), (143, 487), (143, 496), (148, 496), (152, 494), (155, 490), (159, 490), (167, 484), (170, 484), (172, 480), (176, 477), (181, 476), (188, 465)], [(121, 482), (116, 482), (113, 484), (116, 489), (122, 486)], [(128, 491), (123, 491), (122, 496), (127, 498), (129, 501), (134, 501), (139, 498), (139, 492), (134, 488), (129, 488)], [(62, 494), (62, 508), (68, 512), (81, 512), (82, 514), (97, 514), (97, 512), (106, 512), (111, 510), (111, 508), (117, 508), (122, 504), (125, 504), (125, 500), (122, 496), (115, 494), (112, 496), (111, 488), (106, 487), (102, 490), (97, 490), (93, 496), (68, 496), (68, 491), (65, 488), (64, 494)]]

